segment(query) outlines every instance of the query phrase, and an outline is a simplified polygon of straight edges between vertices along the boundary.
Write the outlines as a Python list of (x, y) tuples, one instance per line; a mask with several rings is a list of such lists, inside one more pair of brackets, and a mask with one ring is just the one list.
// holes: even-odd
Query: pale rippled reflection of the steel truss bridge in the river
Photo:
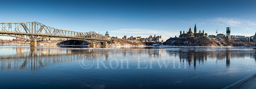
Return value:
[(66, 49), (39, 49), (16, 48), (16, 55), (1, 56), (1, 68), (9, 69), (40, 69), (40, 67), (55, 65), (58, 63), (78, 61), (81, 59), (93, 60), (105, 56), (108, 58), (108, 50), (66, 50)]

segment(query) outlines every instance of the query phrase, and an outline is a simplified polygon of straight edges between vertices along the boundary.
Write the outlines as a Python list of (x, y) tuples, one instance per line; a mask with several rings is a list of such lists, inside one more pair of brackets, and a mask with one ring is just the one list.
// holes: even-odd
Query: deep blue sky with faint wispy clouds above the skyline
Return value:
[[(180, 30), (208, 35), (231, 27), (231, 35), (252, 36), (256, 30), (255, 0), (4, 0), (0, 22), (40, 22), (58, 29), (122, 38), (162, 35), (165, 41)], [(193, 31), (194, 32), (194, 31)], [(9, 39), (11, 37), (2, 37)], [(11, 38), (12, 39), (12, 38)]]

